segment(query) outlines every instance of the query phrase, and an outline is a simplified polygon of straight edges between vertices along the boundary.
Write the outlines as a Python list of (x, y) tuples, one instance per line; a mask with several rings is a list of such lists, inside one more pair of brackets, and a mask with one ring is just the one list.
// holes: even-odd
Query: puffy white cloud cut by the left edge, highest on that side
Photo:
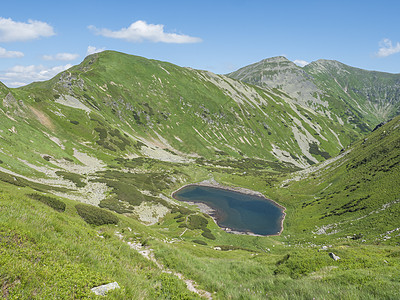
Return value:
[(55, 35), (53, 27), (41, 21), (15, 22), (0, 17), (0, 42), (21, 42)]

